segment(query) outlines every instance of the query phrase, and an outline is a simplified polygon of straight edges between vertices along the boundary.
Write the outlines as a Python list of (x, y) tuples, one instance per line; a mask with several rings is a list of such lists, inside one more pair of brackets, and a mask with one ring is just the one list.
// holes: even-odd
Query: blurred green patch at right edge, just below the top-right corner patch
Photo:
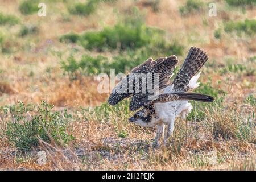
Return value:
[(256, 33), (256, 20), (246, 19), (237, 22), (230, 20), (224, 23), (224, 30), (228, 33), (236, 32), (238, 36), (242, 36), (242, 33), (252, 36)]

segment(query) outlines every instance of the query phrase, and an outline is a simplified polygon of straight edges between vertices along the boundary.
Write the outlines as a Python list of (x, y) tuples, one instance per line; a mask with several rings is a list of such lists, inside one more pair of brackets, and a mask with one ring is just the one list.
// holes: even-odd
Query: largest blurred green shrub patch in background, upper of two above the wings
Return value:
[[(85, 49), (96, 51), (130, 51), (142, 47), (152, 51), (168, 52), (175, 48), (180, 53), (180, 44), (175, 47), (166, 41), (165, 32), (158, 28), (148, 27), (142, 15), (134, 9), (129, 18), (119, 20), (113, 27), (105, 27), (101, 31), (87, 31), (84, 34), (73, 32), (60, 37), (61, 42), (81, 44)], [(154, 48), (153, 48), (154, 47)], [(178, 49), (178, 50), (177, 50)], [(156, 52), (154, 51), (154, 52)]]

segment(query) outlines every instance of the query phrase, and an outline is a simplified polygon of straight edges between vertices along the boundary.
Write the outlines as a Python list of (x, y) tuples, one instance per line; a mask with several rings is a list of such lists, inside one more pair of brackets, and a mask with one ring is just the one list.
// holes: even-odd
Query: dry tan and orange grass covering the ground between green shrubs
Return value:
[[(19, 2), (0, 1), (2, 13), (21, 19), (15, 26), (0, 27), (0, 33), (7, 38), (4, 46), (11, 50), (0, 53), (0, 107), (8, 105), (9, 108), (17, 101), (39, 104), (47, 96), (56, 110), (68, 109), (73, 115), (70, 125), (75, 142), (57, 145), (54, 141), (46, 143), (39, 139), (39, 146), (24, 154), (0, 136), (0, 169), (255, 170), (256, 110), (246, 98), (256, 95), (255, 72), (250, 72), (250, 69), (256, 70), (255, 59), (250, 61), (256, 56), (256, 36), (239, 37), (221, 31), (221, 39), (214, 38), (214, 31), (223, 28), (226, 20), (255, 19), (255, 7), (243, 13), (218, 1), (217, 17), (209, 17), (205, 11), (184, 18), (179, 14), (179, 7), (185, 1), (162, 0), (159, 11), (154, 11), (145, 1), (129, 0), (113, 5), (102, 3), (104, 9), (97, 9), (89, 16), (77, 16), (67, 10), (72, 1), (47, 1), (47, 16), (39, 18), (36, 14), (20, 15)], [(117, 107), (106, 105), (108, 94), (97, 92), (98, 81), (93, 76), (82, 75), (71, 81), (60, 68), (60, 62), (71, 54), (75, 57), (85, 53), (101, 54), (110, 59), (117, 55), (115, 51), (89, 52), (77, 44), (61, 43), (59, 37), (70, 31), (82, 33), (113, 26), (118, 16), (130, 12), (133, 6), (146, 14), (148, 26), (162, 28), (168, 40), (179, 40), (185, 46), (180, 60), (191, 46), (207, 51), (210, 59), (202, 68), (200, 81), (206, 83), (211, 78), (213, 90), (227, 93), (223, 102), (216, 101), (216, 105), (205, 107), (206, 117), (188, 121), (187, 131), (185, 121), (177, 119), (173, 141), (167, 147), (150, 146), (155, 129), (142, 129), (127, 122), (132, 114), (127, 111), (127, 102)], [(38, 34), (19, 37), (22, 24), (37, 26)], [(246, 70), (220, 73), (220, 69), (229, 64), (245, 65)], [(4, 129), (11, 115), (2, 116), (3, 113), (0, 128)], [(39, 150), (46, 151), (46, 164), (38, 163)]]

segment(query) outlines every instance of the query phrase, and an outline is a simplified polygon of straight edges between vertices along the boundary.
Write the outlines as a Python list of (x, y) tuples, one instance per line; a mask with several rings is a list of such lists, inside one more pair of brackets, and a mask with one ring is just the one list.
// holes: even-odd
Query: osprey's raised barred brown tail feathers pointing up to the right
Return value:
[(180, 69), (177, 76), (174, 78), (172, 85), (174, 85), (173, 92), (185, 91), (189, 80), (199, 71), (201, 67), (208, 60), (206, 52), (200, 48), (191, 47), (188, 55)]

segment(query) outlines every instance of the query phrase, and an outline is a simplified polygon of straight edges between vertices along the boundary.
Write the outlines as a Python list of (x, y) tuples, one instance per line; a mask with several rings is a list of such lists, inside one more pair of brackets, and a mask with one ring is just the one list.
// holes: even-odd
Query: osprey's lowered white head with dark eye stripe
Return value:
[(147, 124), (151, 121), (151, 115), (148, 113), (147, 109), (142, 109), (137, 111), (133, 117), (129, 118), (129, 123), (133, 122), (143, 127), (146, 127)]

